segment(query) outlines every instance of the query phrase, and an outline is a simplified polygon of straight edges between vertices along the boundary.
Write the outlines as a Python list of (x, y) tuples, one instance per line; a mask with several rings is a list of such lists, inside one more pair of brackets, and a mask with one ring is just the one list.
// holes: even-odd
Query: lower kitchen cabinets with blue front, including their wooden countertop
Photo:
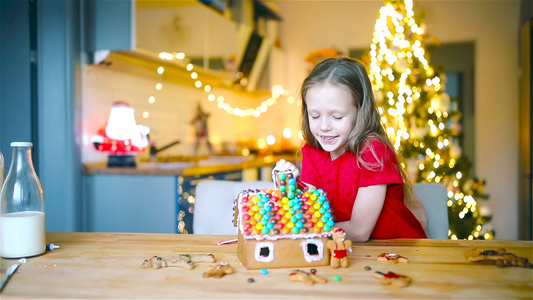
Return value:
[(139, 164), (137, 168), (84, 168), (82, 230), (89, 232), (193, 233), (196, 185), (202, 180), (270, 180), (279, 159), (254, 158), (242, 163), (197, 165)]

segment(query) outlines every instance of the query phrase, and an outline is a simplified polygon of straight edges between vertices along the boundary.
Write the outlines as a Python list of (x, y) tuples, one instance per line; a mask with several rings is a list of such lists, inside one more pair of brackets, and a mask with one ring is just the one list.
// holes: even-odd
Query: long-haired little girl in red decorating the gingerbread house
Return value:
[(290, 170), (331, 201), (335, 226), (348, 239), (427, 238), (417, 218), (411, 184), (380, 123), (365, 67), (350, 58), (322, 61), (304, 80), (301, 96), (302, 172)]

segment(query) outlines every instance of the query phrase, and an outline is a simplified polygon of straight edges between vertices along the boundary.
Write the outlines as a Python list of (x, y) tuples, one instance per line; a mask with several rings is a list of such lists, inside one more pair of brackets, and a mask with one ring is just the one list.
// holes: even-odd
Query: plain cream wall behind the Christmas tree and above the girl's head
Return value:
[[(286, 85), (296, 91), (312, 50), (371, 44), (382, 1), (271, 1), (283, 16)], [(518, 238), (518, 32), (520, 1), (416, 1), (430, 34), (441, 42), (474, 41), (476, 174), (497, 239)]]

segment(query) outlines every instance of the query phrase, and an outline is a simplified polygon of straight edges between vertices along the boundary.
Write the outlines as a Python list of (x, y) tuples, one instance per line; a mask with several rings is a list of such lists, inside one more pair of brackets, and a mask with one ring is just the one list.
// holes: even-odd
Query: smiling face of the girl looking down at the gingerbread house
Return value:
[(350, 90), (342, 85), (317, 83), (307, 90), (305, 102), (311, 133), (332, 160), (341, 156), (357, 113)]

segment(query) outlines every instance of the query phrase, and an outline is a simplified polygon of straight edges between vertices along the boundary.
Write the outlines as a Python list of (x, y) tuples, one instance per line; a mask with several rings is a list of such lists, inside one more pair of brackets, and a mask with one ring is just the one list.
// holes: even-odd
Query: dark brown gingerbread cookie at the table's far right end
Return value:
[(517, 256), (507, 252), (505, 249), (496, 250), (478, 250), (471, 248), (465, 251), (465, 258), (470, 262), (493, 261), (498, 267), (522, 267), (533, 268), (533, 264), (525, 257)]

